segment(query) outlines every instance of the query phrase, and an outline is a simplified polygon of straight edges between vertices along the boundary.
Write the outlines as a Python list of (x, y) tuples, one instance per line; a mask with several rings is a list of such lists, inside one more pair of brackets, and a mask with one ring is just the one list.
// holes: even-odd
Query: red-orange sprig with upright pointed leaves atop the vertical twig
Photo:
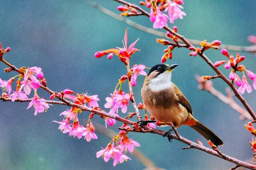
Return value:
[(137, 39), (135, 42), (133, 42), (129, 47), (127, 46), (127, 28), (125, 30), (125, 34), (124, 34), (124, 40), (123, 40), (123, 47), (116, 47), (116, 49), (106, 49), (103, 51), (98, 51), (95, 53), (95, 57), (96, 58), (100, 58), (106, 54), (109, 53), (108, 55), (108, 59), (111, 59), (113, 57), (113, 55), (118, 56), (118, 58), (124, 62), (126, 65), (130, 62), (129, 59), (130, 57), (132, 57), (132, 55), (136, 52), (136, 51), (140, 51), (137, 48), (134, 48), (134, 45), (137, 43), (139, 39)]

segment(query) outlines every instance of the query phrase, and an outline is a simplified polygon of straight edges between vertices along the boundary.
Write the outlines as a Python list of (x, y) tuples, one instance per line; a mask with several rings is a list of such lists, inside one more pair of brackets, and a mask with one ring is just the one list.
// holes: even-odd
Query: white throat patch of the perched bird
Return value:
[(171, 77), (172, 73), (165, 71), (164, 73), (158, 75), (156, 78), (150, 80), (148, 83), (149, 88), (154, 92), (172, 88), (172, 83), (170, 82)]

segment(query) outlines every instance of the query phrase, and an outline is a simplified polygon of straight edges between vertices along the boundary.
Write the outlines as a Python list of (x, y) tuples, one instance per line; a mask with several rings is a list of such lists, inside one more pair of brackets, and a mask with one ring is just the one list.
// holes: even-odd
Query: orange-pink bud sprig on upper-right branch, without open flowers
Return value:
[(202, 53), (203, 51), (205, 51), (207, 49), (210, 49), (210, 48), (218, 49), (218, 46), (221, 45), (221, 41), (214, 40), (213, 42), (208, 43), (206, 40), (204, 40), (200, 43), (200, 45), (201, 45), (201, 48), (199, 48), (199, 47), (196, 48), (196, 47), (192, 47), (192, 46), (189, 47), (188, 49), (191, 51), (194, 51), (194, 52), (190, 52), (188, 55), (196, 57), (196, 55), (198, 53)]

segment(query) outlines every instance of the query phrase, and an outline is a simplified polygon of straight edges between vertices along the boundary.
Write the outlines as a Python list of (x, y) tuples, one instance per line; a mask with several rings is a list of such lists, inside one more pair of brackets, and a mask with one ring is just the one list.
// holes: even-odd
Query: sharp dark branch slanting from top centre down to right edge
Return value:
[[(130, 4), (124, 0), (114, 0), (116, 2), (119, 2), (121, 4), (125, 4), (128, 6), (131, 6), (132, 8), (135, 8), (137, 10), (139, 10), (140, 12), (142, 12), (142, 14), (144, 14), (145, 16), (149, 17), (150, 15), (148, 14), (148, 12), (146, 12), (145, 10), (143, 10), (142, 8), (140, 8), (139, 6), (137, 6), (136, 4)], [(171, 34), (173, 34), (174, 36), (176, 36), (177, 38), (179, 38), (180, 40), (182, 40), (182, 42), (184, 42), (186, 44), (186, 47), (193, 47), (193, 45), (186, 39), (184, 38), (184, 36), (174, 32), (172, 29), (170, 29), (167, 26), (164, 26), (164, 29), (168, 32), (170, 32)], [(208, 65), (210, 65), (210, 67), (212, 67), (212, 69), (220, 76), (220, 78), (225, 81), (226, 84), (228, 84), (228, 86), (234, 91), (236, 97), (240, 100), (240, 102), (244, 105), (244, 107), (246, 108), (246, 110), (248, 111), (248, 113), (251, 115), (251, 117), (253, 118), (253, 120), (256, 120), (256, 115), (253, 112), (253, 110), (251, 109), (251, 107), (248, 105), (248, 103), (246, 102), (246, 100), (242, 97), (242, 95), (240, 95), (240, 93), (238, 93), (236, 87), (234, 86), (234, 84), (229, 81), (229, 79), (223, 75), (223, 73), (217, 68), (214, 67), (214, 64), (212, 63), (212, 61), (210, 61), (210, 59), (208, 59), (208, 57), (206, 55), (204, 55), (203, 52), (199, 52), (198, 55), (200, 55), (202, 57), (202, 59), (204, 59), (204, 61), (206, 61), (206, 63)]]

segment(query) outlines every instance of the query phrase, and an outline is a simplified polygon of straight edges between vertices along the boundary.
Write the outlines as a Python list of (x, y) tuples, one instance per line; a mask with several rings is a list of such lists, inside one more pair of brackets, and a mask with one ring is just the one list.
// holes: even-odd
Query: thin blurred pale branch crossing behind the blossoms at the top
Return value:
[[(142, 26), (132, 20), (129, 20), (127, 18), (124, 18), (102, 6), (100, 6), (99, 4), (93, 3), (91, 2), (91, 5), (96, 8), (97, 10), (99, 10), (100, 12), (103, 12), (104, 14), (107, 14), (108, 16), (111, 16), (112, 18), (115, 18), (116, 20), (119, 20), (121, 22), (124, 22), (130, 26), (132, 26), (133, 28), (136, 28), (137, 30), (141, 30), (143, 32), (146, 32), (148, 34), (152, 34), (155, 36), (159, 36), (162, 38), (169, 38), (166, 36), (166, 34), (164, 32), (158, 31), (158, 30), (154, 30), (152, 28), (148, 28), (145, 26)], [(142, 13), (140, 13), (140, 15), (143, 15)], [(170, 39), (170, 38), (169, 38)], [(200, 43), (202, 41), (199, 40), (192, 40), (192, 39), (187, 39), (190, 43), (192, 43), (193, 45), (200, 45)], [(182, 42), (181, 40), (179, 40), (179, 42)], [(232, 51), (248, 51), (248, 52), (256, 52), (256, 45), (252, 45), (252, 46), (236, 46), (236, 45), (226, 45), (226, 44), (222, 44), (219, 46), (220, 49), (221, 48), (225, 48), (227, 50), (232, 50)]]

